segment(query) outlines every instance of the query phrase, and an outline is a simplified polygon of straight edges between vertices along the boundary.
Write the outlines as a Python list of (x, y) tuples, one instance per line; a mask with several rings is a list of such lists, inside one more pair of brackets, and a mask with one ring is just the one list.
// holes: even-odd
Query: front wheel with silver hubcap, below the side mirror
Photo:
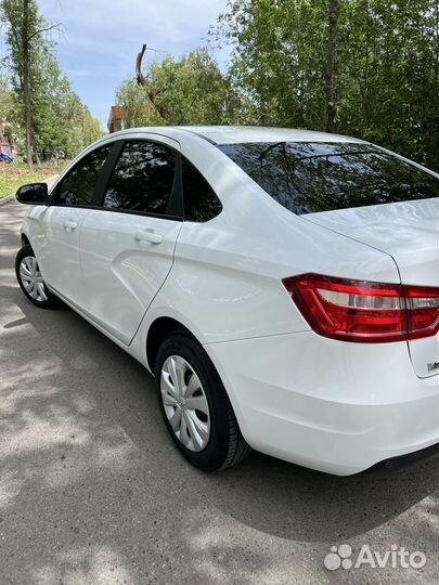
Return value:
[(15, 258), (15, 273), (26, 297), (41, 309), (53, 309), (59, 301), (42, 280), (41, 272), (31, 246), (23, 246)]

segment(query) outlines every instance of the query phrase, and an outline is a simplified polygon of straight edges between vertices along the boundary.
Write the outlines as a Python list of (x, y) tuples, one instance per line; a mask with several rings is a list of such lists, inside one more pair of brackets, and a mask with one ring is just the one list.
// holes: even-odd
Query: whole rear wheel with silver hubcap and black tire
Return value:
[(192, 465), (214, 471), (248, 455), (250, 447), (241, 434), (221, 379), (192, 337), (175, 333), (164, 341), (155, 377), (166, 427)]

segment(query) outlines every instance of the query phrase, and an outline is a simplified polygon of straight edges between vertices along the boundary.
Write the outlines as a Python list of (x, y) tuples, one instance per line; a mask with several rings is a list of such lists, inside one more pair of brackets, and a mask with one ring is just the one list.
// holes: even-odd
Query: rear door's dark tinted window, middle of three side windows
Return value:
[(127, 142), (109, 179), (104, 207), (165, 214), (175, 174), (173, 151), (149, 141)]

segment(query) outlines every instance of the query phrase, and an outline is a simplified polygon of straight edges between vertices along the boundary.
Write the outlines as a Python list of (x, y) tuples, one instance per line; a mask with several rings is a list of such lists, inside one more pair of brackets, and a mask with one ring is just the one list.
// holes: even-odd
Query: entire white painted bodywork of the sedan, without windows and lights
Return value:
[[(124, 131), (99, 145), (120, 136), (172, 141), (223, 210), (195, 223), (76, 208), (53, 218), (54, 208), (30, 208), (23, 233), (52, 290), (147, 368), (151, 326), (179, 321), (217, 367), (244, 438), (263, 453), (350, 474), (439, 442), (439, 382), (427, 372), (439, 360), (438, 336), (410, 341), (410, 351), (405, 341), (321, 337), (281, 284), (318, 273), (438, 286), (439, 199), (298, 217), (210, 141), (361, 141), (199, 127)], [(77, 229), (68, 232), (72, 217)], [(145, 230), (163, 240), (139, 242)]]

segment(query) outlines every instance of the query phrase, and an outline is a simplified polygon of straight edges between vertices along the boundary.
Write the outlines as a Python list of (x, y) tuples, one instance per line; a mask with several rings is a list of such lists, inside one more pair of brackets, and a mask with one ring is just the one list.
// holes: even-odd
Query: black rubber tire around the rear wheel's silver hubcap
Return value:
[[(186, 448), (173, 432), (162, 400), (160, 377), (166, 360), (177, 355), (183, 358), (198, 376), (206, 395), (210, 414), (210, 435), (202, 451)], [(179, 451), (195, 467), (216, 471), (243, 460), (250, 447), (241, 434), (236, 417), (222, 381), (202, 346), (184, 332), (172, 333), (160, 346), (155, 363), (157, 398), (165, 425)]]

